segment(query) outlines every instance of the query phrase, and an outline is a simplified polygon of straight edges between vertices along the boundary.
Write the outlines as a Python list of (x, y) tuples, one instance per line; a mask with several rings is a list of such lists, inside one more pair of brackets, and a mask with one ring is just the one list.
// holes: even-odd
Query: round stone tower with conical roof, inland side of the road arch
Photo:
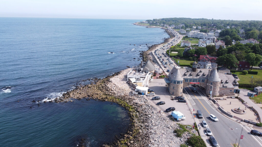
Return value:
[(220, 82), (221, 79), (217, 71), (215, 69), (212, 69), (210, 71), (210, 76), (208, 78), (207, 85), (206, 85), (206, 94), (210, 94), (210, 91), (212, 91), (212, 86), (213, 86), (212, 96), (219, 95)]

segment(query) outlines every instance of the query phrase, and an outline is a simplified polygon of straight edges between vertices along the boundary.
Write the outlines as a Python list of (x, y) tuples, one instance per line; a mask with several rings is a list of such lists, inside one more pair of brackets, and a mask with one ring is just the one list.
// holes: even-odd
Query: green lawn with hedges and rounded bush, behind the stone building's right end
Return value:
[(257, 71), (258, 74), (257, 75), (251, 75), (251, 74), (244, 75), (242, 73), (242, 71), (237, 71), (235, 74), (237, 74), (237, 76), (239, 78), (238, 83), (239, 84), (250, 84), (250, 79), (252, 78), (252, 76), (253, 76), (253, 78), (255, 78), (257, 80), (262, 80), (262, 70), (253, 69), (252, 71)]

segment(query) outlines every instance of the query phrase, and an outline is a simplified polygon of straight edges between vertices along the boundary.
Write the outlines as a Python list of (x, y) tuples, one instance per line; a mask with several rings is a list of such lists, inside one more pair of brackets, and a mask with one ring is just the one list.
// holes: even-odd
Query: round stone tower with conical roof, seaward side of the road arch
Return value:
[(174, 67), (168, 76), (170, 78), (169, 93), (172, 95), (181, 96), (183, 92), (184, 79), (181, 76), (179, 69)]

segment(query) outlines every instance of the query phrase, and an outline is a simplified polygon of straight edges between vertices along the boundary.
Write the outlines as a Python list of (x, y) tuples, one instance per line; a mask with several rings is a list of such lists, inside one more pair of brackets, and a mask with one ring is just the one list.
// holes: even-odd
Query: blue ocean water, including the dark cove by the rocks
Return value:
[(117, 104), (31, 101), (140, 64), (146, 44), (168, 35), (136, 21), (0, 18), (0, 146), (76, 146), (79, 138), (99, 146), (125, 133), (130, 121)]

